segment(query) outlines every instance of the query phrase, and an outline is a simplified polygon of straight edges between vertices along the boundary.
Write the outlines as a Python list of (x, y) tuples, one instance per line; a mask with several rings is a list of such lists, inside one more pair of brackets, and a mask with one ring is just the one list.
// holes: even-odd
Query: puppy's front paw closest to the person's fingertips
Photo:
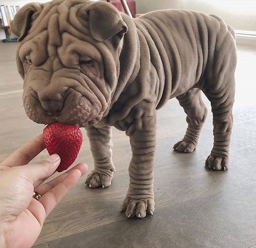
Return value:
[(99, 172), (92, 170), (88, 174), (85, 183), (91, 188), (98, 188), (98, 187), (105, 188), (110, 186), (112, 177), (113, 177), (112, 170), (108, 170), (104, 174), (101, 174)]

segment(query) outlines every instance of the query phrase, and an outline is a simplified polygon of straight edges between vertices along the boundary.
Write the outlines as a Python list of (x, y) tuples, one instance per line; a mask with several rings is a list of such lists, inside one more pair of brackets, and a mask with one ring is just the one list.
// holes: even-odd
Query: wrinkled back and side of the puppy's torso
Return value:
[[(151, 62), (163, 63), (163, 87), (158, 107), (202, 83), (216, 54), (230, 47), (235, 54), (235, 32), (221, 18), (190, 10), (159, 10), (134, 20), (147, 40)], [(230, 52), (230, 51), (228, 51)], [(218, 60), (222, 61), (222, 56)], [(155, 65), (157, 67), (157, 65)], [(213, 68), (210, 68), (212, 71)], [(160, 72), (159, 72), (160, 73)]]

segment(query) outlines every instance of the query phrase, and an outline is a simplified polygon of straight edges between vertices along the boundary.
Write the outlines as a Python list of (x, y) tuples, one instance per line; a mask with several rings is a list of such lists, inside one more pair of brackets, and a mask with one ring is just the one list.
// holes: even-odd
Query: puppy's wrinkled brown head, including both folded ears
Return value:
[(120, 13), (105, 2), (54, 0), (27, 4), (11, 29), (21, 44), (26, 114), (37, 123), (95, 124), (117, 87), (122, 37)]

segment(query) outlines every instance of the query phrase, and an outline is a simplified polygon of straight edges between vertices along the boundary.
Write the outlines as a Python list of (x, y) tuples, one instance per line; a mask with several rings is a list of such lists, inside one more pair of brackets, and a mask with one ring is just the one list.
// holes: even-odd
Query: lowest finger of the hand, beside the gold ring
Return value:
[(60, 200), (67, 194), (67, 192), (76, 185), (76, 182), (81, 176), (81, 171), (78, 169), (73, 170), (69, 173), (62, 182), (59, 182), (53, 189), (48, 191), (40, 198), (40, 203), (45, 208), (46, 217), (60, 202)]

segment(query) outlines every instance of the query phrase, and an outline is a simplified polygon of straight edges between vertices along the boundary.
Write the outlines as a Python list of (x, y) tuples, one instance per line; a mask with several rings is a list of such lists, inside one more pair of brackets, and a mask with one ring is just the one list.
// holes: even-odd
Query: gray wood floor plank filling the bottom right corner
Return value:
[[(256, 182), (160, 208), (146, 219), (120, 219), (62, 239), (49, 248), (248, 248), (256, 244)], [(243, 199), (243, 200), (241, 200)]]

